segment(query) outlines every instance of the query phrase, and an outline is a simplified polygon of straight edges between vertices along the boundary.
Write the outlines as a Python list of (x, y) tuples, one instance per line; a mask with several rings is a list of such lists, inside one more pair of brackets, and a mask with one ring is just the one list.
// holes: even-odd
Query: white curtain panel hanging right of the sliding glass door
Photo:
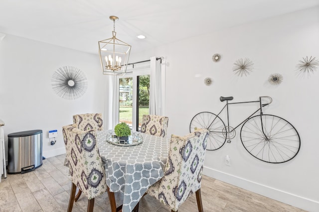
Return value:
[[(161, 61), (161, 63), (160, 63)], [(165, 114), (165, 61), (151, 57), (150, 114)]]

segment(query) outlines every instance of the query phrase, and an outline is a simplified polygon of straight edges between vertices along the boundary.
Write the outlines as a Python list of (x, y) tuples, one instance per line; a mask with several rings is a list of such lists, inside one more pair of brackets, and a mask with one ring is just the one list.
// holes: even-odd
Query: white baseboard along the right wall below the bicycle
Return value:
[(218, 170), (204, 167), (203, 174), (216, 180), (229, 183), (231, 185), (243, 188), (256, 194), (277, 200), (279, 202), (309, 211), (319, 212), (319, 202), (303, 198), (288, 192), (284, 192), (275, 188), (261, 185), (234, 175), (230, 175)]

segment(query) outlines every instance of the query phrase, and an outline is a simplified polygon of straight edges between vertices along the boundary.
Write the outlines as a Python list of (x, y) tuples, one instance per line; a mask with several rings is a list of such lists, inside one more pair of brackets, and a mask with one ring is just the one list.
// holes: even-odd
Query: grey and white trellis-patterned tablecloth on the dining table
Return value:
[(117, 146), (106, 141), (107, 131), (97, 132), (106, 183), (111, 192), (124, 194), (123, 212), (131, 212), (147, 189), (163, 177), (167, 160), (169, 138), (141, 134), (143, 143)]

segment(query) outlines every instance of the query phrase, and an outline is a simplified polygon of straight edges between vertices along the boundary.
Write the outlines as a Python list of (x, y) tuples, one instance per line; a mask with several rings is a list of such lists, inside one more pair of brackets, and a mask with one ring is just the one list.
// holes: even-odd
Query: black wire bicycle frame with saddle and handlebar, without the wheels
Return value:
[[(221, 101), (223, 102), (224, 100), (222, 100), (223, 97), (221, 97)], [(262, 104), (262, 98), (267, 98), (269, 100), (269, 103), (266, 104)], [(217, 114), (217, 116), (219, 116), (219, 114), (226, 108), (227, 111), (227, 126), (226, 126), (226, 133), (231, 133), (233, 132), (237, 127), (239, 127), (241, 124), (243, 124), (245, 121), (247, 121), (250, 117), (252, 117), (254, 114), (256, 114), (258, 111), (260, 111), (260, 114), (263, 114), (263, 107), (264, 106), (268, 106), (269, 104), (271, 104), (273, 101), (271, 99), (271, 97), (268, 96), (263, 96), (263, 97), (259, 97), (259, 101), (251, 101), (251, 102), (238, 102), (238, 103), (228, 103), (229, 100), (226, 99), (226, 105), (220, 110), (220, 112)], [(228, 105), (234, 105), (234, 104), (247, 104), (247, 103), (259, 103), (259, 108), (253, 112), (251, 115), (249, 115), (245, 120), (243, 120), (240, 124), (238, 124), (236, 127), (234, 127), (232, 130), (229, 130), (230, 126), (229, 126), (229, 109), (228, 109)], [(210, 125), (208, 126), (208, 128), (211, 126), (211, 124), (215, 121), (215, 119), (217, 118), (217, 116), (214, 118), (214, 120), (210, 123)], [(263, 121), (262, 121), (262, 116), (260, 116), (261, 118), (261, 125), (262, 125), (262, 131), (263, 134), (265, 136), (266, 139), (268, 139), (268, 137), (266, 136), (265, 132), (264, 132), (264, 127), (263, 127)], [(219, 131), (212, 131), (212, 132), (219, 132)], [(220, 132), (220, 133), (224, 133), (224, 132)]]

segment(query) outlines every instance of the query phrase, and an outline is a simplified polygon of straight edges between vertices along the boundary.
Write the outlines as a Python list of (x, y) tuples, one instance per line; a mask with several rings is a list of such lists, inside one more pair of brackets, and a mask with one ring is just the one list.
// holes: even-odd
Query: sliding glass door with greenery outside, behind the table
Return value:
[(143, 115), (149, 114), (150, 70), (118, 76), (117, 88), (117, 123), (125, 122), (138, 131)]

